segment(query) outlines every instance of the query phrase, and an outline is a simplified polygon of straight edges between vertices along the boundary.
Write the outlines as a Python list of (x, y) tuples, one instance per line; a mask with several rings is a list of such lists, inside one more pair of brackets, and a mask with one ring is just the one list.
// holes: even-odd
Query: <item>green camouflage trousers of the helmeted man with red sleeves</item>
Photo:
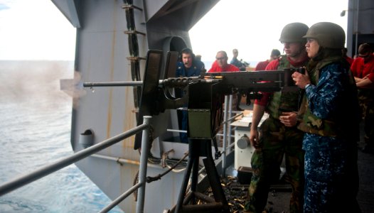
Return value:
[(283, 156), (285, 179), (292, 185), (290, 212), (302, 212), (304, 193), (304, 132), (284, 126), (278, 119), (266, 119), (261, 125), (260, 147), (252, 155), (252, 179), (249, 187), (247, 212), (262, 212), (267, 204), (269, 187), (279, 180)]

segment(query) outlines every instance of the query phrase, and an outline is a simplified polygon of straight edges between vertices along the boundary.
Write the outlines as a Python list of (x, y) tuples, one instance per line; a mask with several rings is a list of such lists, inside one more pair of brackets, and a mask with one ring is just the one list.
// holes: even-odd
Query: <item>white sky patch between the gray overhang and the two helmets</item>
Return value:
[(232, 58), (237, 48), (238, 59), (267, 60), (274, 48), (282, 53), (279, 37), (288, 23), (329, 21), (346, 31), (347, 15), (340, 16), (346, 9), (348, 0), (221, 0), (189, 32), (193, 52), (204, 61), (219, 50)]

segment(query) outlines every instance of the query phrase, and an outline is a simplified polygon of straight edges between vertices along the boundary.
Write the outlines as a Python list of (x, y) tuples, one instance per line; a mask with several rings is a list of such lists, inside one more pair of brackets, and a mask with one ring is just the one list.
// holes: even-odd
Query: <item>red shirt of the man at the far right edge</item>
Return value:
[(367, 62), (363, 58), (356, 58), (351, 65), (353, 76), (363, 78), (368, 75), (368, 79), (374, 82), (374, 55), (370, 55)]

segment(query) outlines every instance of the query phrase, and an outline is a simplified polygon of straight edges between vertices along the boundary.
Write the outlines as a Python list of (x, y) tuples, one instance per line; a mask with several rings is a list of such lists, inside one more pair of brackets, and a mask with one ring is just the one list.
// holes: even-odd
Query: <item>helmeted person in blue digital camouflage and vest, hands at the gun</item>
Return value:
[(304, 38), (311, 58), (308, 72), (292, 75), (305, 89), (298, 126), (305, 132), (304, 212), (360, 212), (356, 200), (360, 111), (353, 75), (341, 55), (346, 34), (335, 23), (321, 22), (311, 26)]

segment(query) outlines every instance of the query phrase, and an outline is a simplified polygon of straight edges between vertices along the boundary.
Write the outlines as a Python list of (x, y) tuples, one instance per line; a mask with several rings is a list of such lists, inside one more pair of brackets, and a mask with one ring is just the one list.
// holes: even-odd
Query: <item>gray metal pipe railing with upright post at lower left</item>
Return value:
[(149, 138), (149, 120), (151, 119), (151, 116), (144, 116), (143, 119), (143, 124), (136, 126), (134, 129), (130, 129), (128, 131), (125, 131), (124, 133), (120, 133), (117, 136), (113, 136), (112, 138), (108, 138), (107, 140), (90, 146), (89, 148), (85, 148), (82, 151), (78, 151), (73, 155), (70, 155), (61, 160), (57, 160), (55, 163), (50, 163), (49, 165), (39, 168), (38, 170), (34, 170), (31, 173), (23, 175), (19, 178), (14, 178), (14, 180), (10, 180), (9, 182), (5, 182), (3, 185), (0, 185), (0, 196), (6, 195), (7, 193), (18, 189), (19, 187), (27, 185), (28, 183), (31, 183), (35, 180), (41, 179), (46, 175), (49, 175), (50, 173), (54, 173), (55, 171), (60, 170), (61, 168), (65, 168), (66, 166), (71, 165), (77, 162), (78, 160), (87, 158), (99, 151), (102, 151), (103, 149), (109, 146), (114, 145), (115, 143), (118, 143), (119, 141), (122, 141), (126, 138), (133, 136), (136, 133), (139, 133), (140, 131), (143, 131), (141, 139), (141, 149), (143, 151), (140, 154), (139, 182), (133, 187), (131, 187), (129, 190), (124, 192), (122, 195), (117, 197), (116, 200), (107, 205), (107, 207), (102, 209), (100, 212), (108, 212), (110, 209), (114, 208), (117, 204), (119, 204), (119, 202), (122, 202), (122, 200), (126, 199), (129, 195), (131, 195), (132, 192), (138, 189), (139, 192), (137, 195), (137, 212), (144, 212), (144, 192), (146, 184), (146, 167), (149, 149), (149, 143), (147, 141), (147, 138)]

